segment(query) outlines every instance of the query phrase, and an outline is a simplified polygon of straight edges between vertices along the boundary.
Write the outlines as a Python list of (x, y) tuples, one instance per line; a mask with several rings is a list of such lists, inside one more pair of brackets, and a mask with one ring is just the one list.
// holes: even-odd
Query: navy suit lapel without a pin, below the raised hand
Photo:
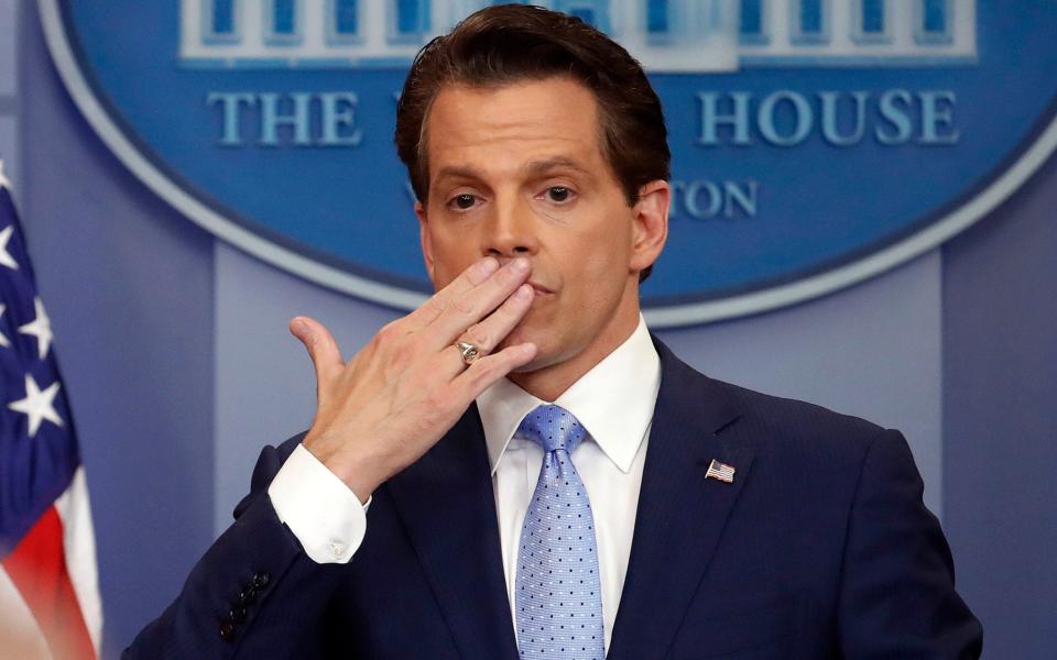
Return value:
[(388, 487), (460, 654), (516, 658), (477, 405)]

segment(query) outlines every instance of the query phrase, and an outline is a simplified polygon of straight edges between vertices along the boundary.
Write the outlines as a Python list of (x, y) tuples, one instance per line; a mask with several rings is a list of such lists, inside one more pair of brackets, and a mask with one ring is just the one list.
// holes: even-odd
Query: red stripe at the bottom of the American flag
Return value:
[(55, 660), (95, 659), (91, 637), (66, 572), (63, 521), (54, 506), (3, 560), (3, 568), (36, 617)]

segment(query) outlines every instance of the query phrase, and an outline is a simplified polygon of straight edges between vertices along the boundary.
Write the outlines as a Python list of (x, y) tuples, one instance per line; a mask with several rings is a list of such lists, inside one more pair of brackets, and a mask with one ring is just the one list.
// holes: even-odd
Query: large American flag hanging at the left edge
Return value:
[(77, 436), (0, 162), (0, 654), (97, 658), (101, 630)]

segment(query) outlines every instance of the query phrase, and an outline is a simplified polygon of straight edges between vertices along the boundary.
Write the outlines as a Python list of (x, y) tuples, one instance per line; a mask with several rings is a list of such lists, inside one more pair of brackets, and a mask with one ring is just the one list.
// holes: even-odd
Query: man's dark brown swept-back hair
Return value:
[(552, 76), (571, 77), (595, 94), (599, 143), (629, 206), (642, 186), (669, 178), (661, 100), (635, 58), (578, 18), (502, 4), (469, 15), (431, 41), (407, 74), (396, 103), (395, 142), (418, 200), (425, 202), (429, 191), (426, 118), (444, 86), (498, 87)]

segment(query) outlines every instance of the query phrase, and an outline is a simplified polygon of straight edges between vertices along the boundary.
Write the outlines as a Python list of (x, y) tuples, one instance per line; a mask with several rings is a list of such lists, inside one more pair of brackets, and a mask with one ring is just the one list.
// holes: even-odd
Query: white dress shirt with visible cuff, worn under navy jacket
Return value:
[[(607, 650), (628, 572), (660, 386), (661, 360), (640, 317), (639, 327), (624, 343), (553, 402), (571, 413), (588, 432), (573, 462), (595, 516)], [(515, 620), (514, 566), (521, 527), (543, 464), (543, 448), (516, 431), (525, 415), (545, 403), (506, 378), (477, 399), (492, 468), (511, 625)], [(345, 563), (363, 540), (367, 507), (303, 446), (291, 454), (268, 493), (280, 520), (316, 562)]]

